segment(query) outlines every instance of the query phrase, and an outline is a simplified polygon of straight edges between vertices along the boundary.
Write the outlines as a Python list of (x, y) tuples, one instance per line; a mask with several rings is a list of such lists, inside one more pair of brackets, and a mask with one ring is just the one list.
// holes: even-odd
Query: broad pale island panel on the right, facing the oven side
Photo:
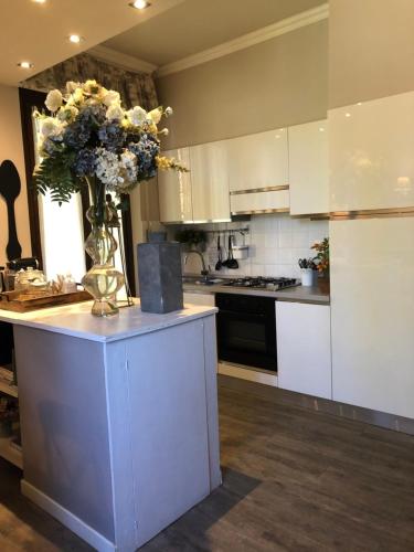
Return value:
[[(125, 343), (127, 395), (119, 395), (125, 381), (115, 360), (123, 355), (119, 343), (107, 346), (114, 488), (123, 486), (132, 469), (124, 492), (129, 503), (134, 495), (138, 548), (210, 493), (204, 318)], [(116, 429), (119, 424), (125, 431)], [(125, 443), (128, 433), (130, 446)], [(130, 510), (126, 513), (116, 491), (115, 497), (116, 529), (124, 531), (125, 550), (130, 550)], [(117, 545), (124, 550), (123, 541)]]

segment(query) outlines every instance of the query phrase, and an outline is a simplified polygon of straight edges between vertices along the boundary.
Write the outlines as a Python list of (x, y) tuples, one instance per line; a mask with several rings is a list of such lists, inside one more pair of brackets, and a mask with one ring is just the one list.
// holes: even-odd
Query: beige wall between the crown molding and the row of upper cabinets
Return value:
[(156, 82), (170, 105), (164, 149), (326, 117), (328, 21), (321, 21)]

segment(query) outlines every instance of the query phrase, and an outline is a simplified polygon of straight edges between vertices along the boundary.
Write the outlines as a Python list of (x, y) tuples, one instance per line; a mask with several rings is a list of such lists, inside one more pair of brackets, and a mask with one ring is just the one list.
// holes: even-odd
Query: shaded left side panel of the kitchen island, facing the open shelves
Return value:
[(22, 489), (40, 491), (114, 542), (104, 346), (23, 326), (14, 326), (14, 343)]

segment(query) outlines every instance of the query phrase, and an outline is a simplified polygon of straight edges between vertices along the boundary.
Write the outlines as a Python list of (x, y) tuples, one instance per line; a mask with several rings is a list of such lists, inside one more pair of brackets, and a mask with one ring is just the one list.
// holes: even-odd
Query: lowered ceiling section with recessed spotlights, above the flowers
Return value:
[[(0, 1), (0, 83), (17, 85), (41, 71), (157, 17), (182, 0), (152, 0), (139, 11), (129, 0), (33, 0)], [(72, 44), (72, 33), (85, 38)], [(18, 67), (21, 61), (32, 70)]]

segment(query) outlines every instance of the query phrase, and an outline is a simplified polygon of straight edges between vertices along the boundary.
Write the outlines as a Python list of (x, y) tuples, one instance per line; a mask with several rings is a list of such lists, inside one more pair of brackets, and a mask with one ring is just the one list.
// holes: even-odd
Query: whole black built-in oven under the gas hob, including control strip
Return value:
[(216, 294), (219, 360), (277, 372), (275, 298)]

